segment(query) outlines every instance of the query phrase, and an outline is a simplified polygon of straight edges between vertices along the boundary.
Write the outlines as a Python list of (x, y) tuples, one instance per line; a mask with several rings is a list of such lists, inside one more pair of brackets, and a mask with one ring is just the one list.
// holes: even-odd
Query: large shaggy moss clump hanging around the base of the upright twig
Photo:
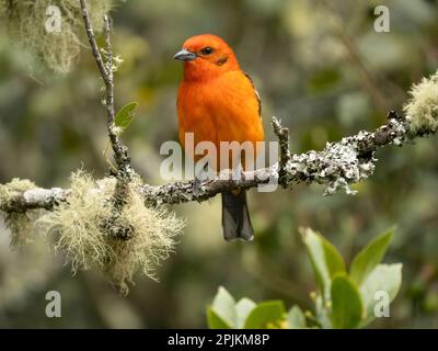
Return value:
[(173, 250), (183, 222), (162, 207), (147, 207), (138, 193), (138, 177), (129, 184), (127, 203), (114, 225), (129, 227), (129, 238), (118, 238), (107, 228), (112, 218), (116, 180), (95, 181), (83, 171), (71, 177), (71, 194), (53, 212), (37, 219), (38, 230), (50, 234), (56, 250), (64, 251), (78, 269), (104, 272), (122, 294), (141, 271), (155, 279), (155, 267)]

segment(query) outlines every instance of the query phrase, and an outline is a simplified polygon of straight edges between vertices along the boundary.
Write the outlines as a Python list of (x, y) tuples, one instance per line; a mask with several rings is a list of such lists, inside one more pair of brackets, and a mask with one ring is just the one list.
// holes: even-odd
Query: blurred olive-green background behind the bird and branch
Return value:
[[(177, 139), (173, 54), (189, 36), (214, 33), (234, 48), (262, 95), (267, 139), (272, 115), (291, 131), (293, 152), (373, 129), (406, 90), (438, 67), (438, 1), (385, 1), (391, 31), (373, 30), (379, 1), (143, 0), (118, 2), (114, 50), (116, 105), (139, 101), (124, 135), (135, 168), (162, 183), (160, 145)], [(67, 75), (47, 70), (16, 47), (0, 25), (0, 183), (13, 177), (41, 186), (68, 186), (83, 167), (103, 177), (107, 165), (101, 84), (83, 41)], [(178, 205), (187, 219), (176, 251), (159, 269), (160, 283), (136, 278), (120, 297), (94, 272), (71, 276), (43, 238), (11, 251), (0, 222), (0, 327), (206, 327), (205, 307), (219, 285), (255, 301), (281, 298), (311, 307), (315, 288), (298, 227), (323, 233), (350, 259), (372, 236), (396, 224), (387, 262), (403, 262), (402, 291), (378, 328), (438, 327), (438, 139), (385, 148), (359, 193), (323, 197), (323, 186), (250, 193), (256, 231), (251, 244), (223, 241), (220, 199)], [(45, 294), (62, 296), (62, 317), (45, 316)]]

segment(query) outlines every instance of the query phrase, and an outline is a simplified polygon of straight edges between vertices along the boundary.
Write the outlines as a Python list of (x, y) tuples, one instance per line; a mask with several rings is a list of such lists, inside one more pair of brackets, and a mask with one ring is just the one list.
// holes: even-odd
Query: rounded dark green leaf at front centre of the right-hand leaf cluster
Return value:
[(346, 274), (337, 275), (331, 295), (333, 328), (356, 328), (362, 318), (362, 301), (356, 284)]

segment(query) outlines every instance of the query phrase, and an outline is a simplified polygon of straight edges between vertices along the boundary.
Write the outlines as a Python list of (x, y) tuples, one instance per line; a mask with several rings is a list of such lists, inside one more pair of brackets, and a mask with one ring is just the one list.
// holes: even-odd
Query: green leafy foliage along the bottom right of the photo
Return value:
[(377, 317), (380, 294), (388, 296), (388, 303), (395, 298), (402, 284), (402, 264), (380, 263), (392, 240), (393, 227), (357, 253), (349, 274), (341, 253), (321, 234), (310, 228), (301, 229), (301, 234), (319, 287), (316, 294), (311, 294), (315, 313), (303, 313), (298, 306), (286, 313), (281, 301), (256, 304), (243, 297), (235, 303), (221, 286), (211, 306), (207, 307), (210, 328), (362, 328)]

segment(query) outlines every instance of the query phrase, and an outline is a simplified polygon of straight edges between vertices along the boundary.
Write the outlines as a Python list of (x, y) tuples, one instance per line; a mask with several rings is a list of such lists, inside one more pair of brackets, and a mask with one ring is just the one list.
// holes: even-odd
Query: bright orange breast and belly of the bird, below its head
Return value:
[[(193, 133), (195, 146), (211, 141), (220, 157), (221, 141), (263, 140), (263, 126), (254, 88), (241, 71), (211, 81), (183, 81), (178, 90), (180, 140)], [(193, 151), (186, 152), (193, 156)], [(196, 159), (196, 157), (195, 157)]]

